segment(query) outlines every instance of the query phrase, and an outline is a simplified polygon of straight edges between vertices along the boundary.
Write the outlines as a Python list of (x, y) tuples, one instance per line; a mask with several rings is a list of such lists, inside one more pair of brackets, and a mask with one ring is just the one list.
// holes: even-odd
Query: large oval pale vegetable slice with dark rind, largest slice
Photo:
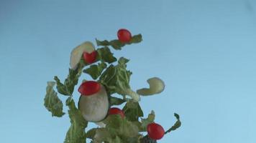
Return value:
[(90, 96), (81, 95), (78, 108), (83, 118), (89, 122), (100, 122), (109, 112), (109, 99), (106, 89), (101, 85), (101, 90)]

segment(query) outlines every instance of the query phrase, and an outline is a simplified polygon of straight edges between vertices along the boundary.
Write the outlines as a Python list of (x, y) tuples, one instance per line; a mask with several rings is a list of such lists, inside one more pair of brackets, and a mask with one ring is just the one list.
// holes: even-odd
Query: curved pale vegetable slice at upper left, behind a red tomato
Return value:
[(91, 54), (91, 52), (95, 51), (95, 47), (94, 45), (91, 43), (91, 41), (86, 41), (83, 44), (76, 46), (76, 48), (74, 48), (71, 51), (71, 55), (70, 55), (70, 67), (71, 69), (76, 69), (81, 56), (83, 55), (83, 52), (87, 52), (88, 54)]

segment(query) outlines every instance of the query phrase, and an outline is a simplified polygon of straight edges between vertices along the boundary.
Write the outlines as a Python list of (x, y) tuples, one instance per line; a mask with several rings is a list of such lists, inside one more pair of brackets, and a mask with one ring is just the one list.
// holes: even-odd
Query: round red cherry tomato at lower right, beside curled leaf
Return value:
[(161, 139), (165, 135), (165, 130), (160, 124), (151, 123), (147, 125), (147, 134), (151, 139)]

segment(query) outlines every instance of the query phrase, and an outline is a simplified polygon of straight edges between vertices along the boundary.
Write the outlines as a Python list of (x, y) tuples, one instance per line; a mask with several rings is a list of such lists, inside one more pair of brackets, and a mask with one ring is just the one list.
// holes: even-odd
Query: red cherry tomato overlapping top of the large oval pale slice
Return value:
[(78, 92), (80, 92), (84, 96), (90, 96), (92, 94), (96, 94), (101, 89), (101, 84), (94, 81), (86, 81), (81, 84), (78, 88)]

